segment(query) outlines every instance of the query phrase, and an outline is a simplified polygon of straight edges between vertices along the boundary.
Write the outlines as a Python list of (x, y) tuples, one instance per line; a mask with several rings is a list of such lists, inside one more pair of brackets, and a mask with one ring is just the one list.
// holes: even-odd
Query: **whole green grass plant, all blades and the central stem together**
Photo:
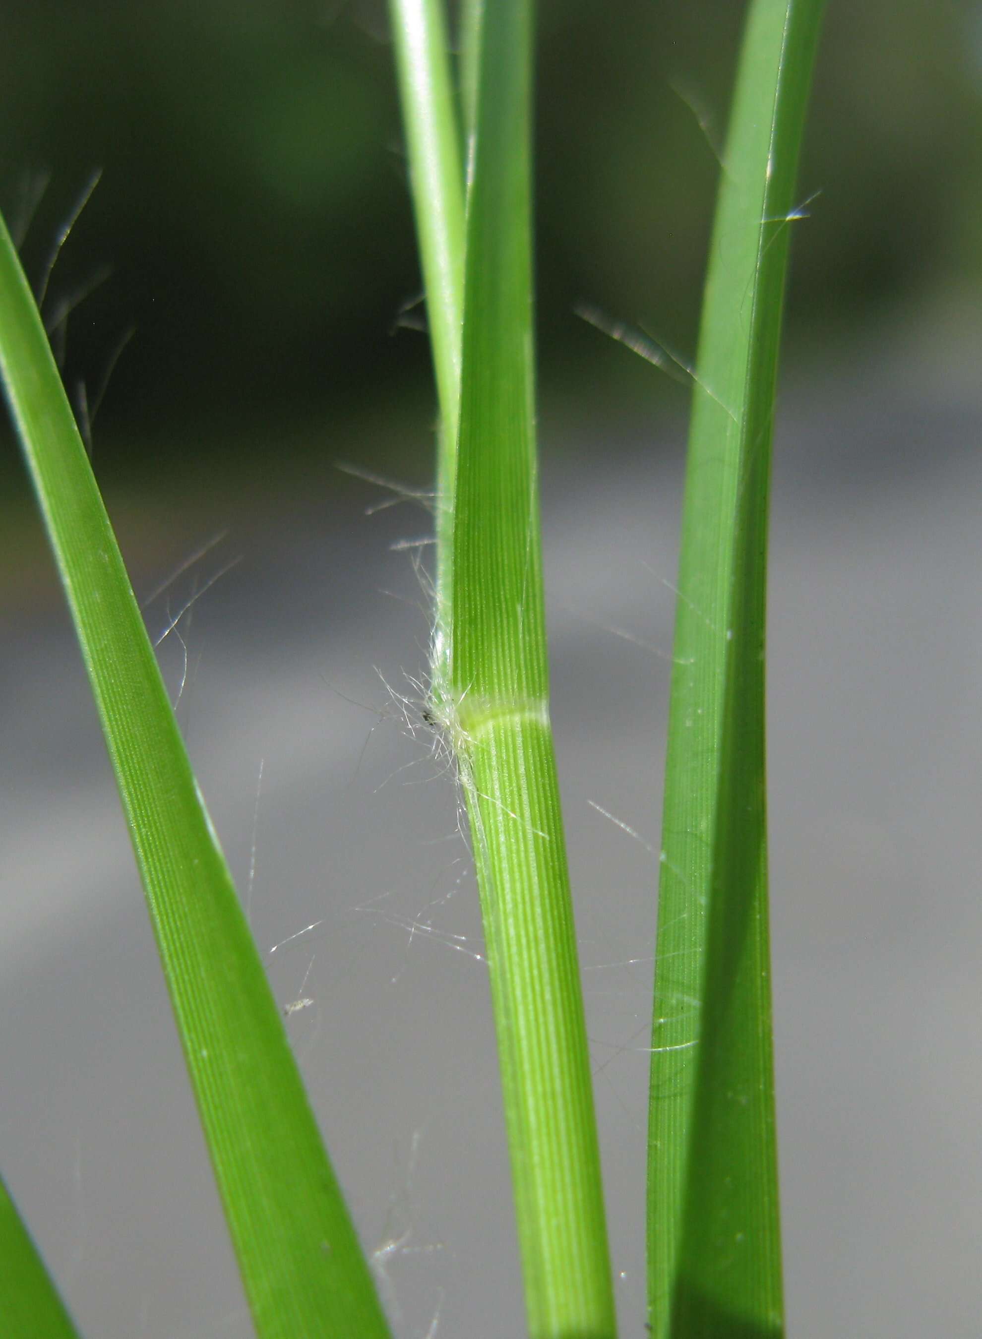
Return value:
[[(794, 177), (821, 0), (753, 0), (706, 285), (658, 912), (650, 1327), (782, 1332), (764, 616)], [(441, 410), (427, 719), (466, 802), (528, 1331), (616, 1332), (552, 746), (535, 439), (531, 0), (390, 0)], [(466, 146), (466, 153), (464, 151)], [(464, 161), (466, 159), (466, 174)], [(31, 289), (0, 224), (0, 374), (117, 773), (257, 1334), (386, 1335)], [(71, 1322), (5, 1193), (3, 1299)], [(11, 1284), (16, 1276), (20, 1281)], [(31, 1334), (16, 1319), (15, 1336)]]

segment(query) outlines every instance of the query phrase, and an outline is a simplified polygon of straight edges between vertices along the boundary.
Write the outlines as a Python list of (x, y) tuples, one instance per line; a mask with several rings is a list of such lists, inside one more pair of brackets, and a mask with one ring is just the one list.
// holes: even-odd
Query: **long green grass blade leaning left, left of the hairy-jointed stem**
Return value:
[(102, 718), (256, 1330), (261, 1339), (383, 1336), (367, 1264), (1, 221), (0, 372)]

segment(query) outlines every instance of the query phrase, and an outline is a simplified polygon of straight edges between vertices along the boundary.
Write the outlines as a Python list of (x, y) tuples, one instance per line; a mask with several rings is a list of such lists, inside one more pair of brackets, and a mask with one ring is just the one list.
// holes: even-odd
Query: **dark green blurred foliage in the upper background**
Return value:
[[(643, 319), (693, 356), (742, 13), (734, 0), (543, 4), (547, 404), (685, 411), (685, 390), (573, 307)], [(831, 5), (792, 360), (978, 305), (981, 91), (977, 3)], [(135, 328), (95, 430), (104, 485), (159, 487), (229, 459), (247, 485), (273, 459), (285, 478), (334, 454), (425, 474), (433, 394), (426, 340), (405, 325), (421, 308), (402, 315), (419, 274), (379, 0), (7, 0), (0, 201), (16, 226), (48, 178), (23, 249), (35, 279), (99, 167), (47, 311), (111, 268), (67, 323), (66, 380), (90, 398)]]

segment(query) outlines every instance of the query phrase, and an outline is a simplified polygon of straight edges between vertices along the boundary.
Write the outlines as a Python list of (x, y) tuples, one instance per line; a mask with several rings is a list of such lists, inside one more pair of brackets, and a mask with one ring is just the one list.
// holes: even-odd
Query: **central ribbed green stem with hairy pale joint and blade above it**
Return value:
[(602, 1339), (615, 1319), (543, 617), (531, 60), (531, 5), (488, 5), (468, 195), (451, 672), (434, 698), (473, 834), (529, 1332)]

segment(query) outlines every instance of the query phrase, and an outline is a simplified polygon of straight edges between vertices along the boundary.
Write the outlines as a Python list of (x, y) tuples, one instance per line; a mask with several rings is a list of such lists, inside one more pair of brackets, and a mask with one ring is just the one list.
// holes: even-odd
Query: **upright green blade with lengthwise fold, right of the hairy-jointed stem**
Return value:
[(648, 1284), (660, 1339), (782, 1332), (764, 633), (774, 383), (821, 0), (753, 0), (689, 443), (658, 909)]

